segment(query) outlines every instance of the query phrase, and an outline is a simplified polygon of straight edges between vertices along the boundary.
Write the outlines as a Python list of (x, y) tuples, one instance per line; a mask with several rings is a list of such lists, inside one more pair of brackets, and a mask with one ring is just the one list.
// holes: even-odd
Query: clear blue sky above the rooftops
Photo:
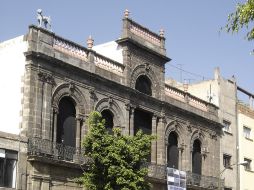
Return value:
[[(0, 42), (25, 34), (37, 24), (36, 10), (52, 18), (53, 31), (86, 46), (91, 34), (95, 44), (120, 37), (123, 12), (154, 32), (165, 30), (166, 77), (197, 82), (213, 77), (220, 67), (225, 78), (235, 75), (238, 85), (254, 92), (253, 42), (244, 33), (220, 32), (227, 16), (239, 1), (234, 0), (2, 0), (0, 4)], [(185, 71), (180, 71), (182, 68)]]

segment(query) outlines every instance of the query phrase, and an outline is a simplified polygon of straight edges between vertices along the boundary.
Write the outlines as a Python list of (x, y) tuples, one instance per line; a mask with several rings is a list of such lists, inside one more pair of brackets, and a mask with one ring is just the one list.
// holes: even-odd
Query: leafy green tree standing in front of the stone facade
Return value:
[(148, 190), (148, 170), (142, 165), (150, 154), (151, 135), (139, 131), (122, 135), (119, 128), (110, 134), (99, 112), (91, 112), (89, 133), (83, 141), (84, 156), (93, 161), (79, 179), (89, 190)]

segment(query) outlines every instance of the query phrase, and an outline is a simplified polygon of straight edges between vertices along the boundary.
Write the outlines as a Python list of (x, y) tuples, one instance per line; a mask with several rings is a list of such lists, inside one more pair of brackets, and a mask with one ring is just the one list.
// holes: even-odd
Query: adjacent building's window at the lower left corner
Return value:
[(0, 187), (15, 188), (18, 153), (0, 149)]

